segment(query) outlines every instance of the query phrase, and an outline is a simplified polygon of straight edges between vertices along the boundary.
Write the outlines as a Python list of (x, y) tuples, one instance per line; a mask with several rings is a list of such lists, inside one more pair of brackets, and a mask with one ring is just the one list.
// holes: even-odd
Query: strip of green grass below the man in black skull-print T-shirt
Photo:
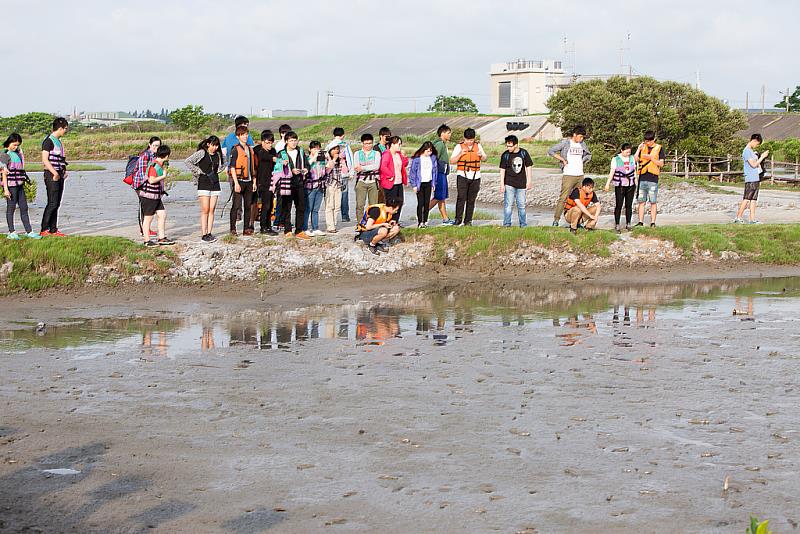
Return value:
[(549, 249), (570, 249), (576, 252), (608, 257), (608, 246), (617, 239), (614, 232), (597, 230), (571, 234), (563, 228), (528, 227), (502, 228), (498, 226), (439, 226), (418, 230), (403, 229), (407, 240), (433, 239), (434, 254), (444, 260), (448, 249), (455, 249), (457, 257), (496, 257), (517, 249), (527, 242)]

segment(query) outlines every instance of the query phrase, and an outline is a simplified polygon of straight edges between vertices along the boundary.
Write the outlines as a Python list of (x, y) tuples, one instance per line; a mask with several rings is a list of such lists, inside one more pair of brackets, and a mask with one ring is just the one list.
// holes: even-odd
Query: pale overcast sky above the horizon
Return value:
[[(695, 83), (743, 107), (800, 85), (800, 2), (488, 0), (0, 0), (0, 115), (174, 109), (423, 111), (464, 94), (489, 111), (489, 66), (563, 59), (576, 71)], [(147, 12), (145, 9), (149, 9)], [(630, 40), (627, 35), (630, 33)], [(13, 52), (11, 52), (13, 50)]]

